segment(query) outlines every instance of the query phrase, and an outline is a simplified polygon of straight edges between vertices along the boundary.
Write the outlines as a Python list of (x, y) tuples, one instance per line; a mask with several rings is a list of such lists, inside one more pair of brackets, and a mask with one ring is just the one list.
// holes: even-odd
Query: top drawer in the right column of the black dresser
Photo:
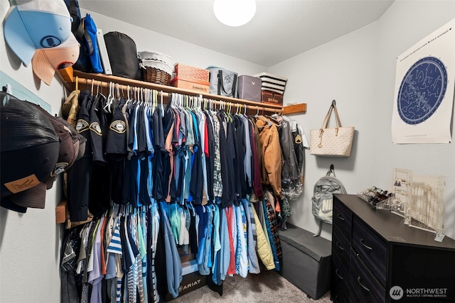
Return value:
[(352, 246), (363, 263), (385, 287), (387, 268), (387, 242), (357, 217), (353, 219)]

